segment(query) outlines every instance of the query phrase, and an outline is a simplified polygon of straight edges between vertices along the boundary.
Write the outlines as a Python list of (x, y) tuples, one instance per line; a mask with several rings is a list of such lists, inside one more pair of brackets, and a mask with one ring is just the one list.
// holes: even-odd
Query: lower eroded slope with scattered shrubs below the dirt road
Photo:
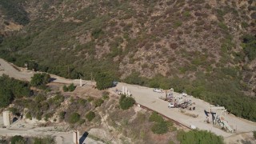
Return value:
[[(210, 131), (190, 131), (152, 110), (134, 106), (134, 98), (125, 95), (119, 97), (91, 86), (64, 92), (62, 88), (65, 85), (59, 83), (44, 84), (46, 90), (42, 90), (42, 86), (30, 87), (34, 80), (29, 84), (6, 75), (0, 77), (0, 113), (9, 110), (11, 119), (15, 121), (6, 129), (1, 128), (1, 144), (15, 143), (8, 138), (13, 134), (25, 136), (22, 143), (28, 144), (42, 143), (35, 142), (35, 137), (47, 144), (72, 143), (73, 130), (79, 130), (82, 135), (79, 143), (84, 143), (85, 138), (95, 140), (86, 143), (102, 141), (113, 144), (186, 143), (191, 140), (223, 143), (224, 140)], [(79, 89), (86, 94), (79, 94)], [(0, 126), (3, 126), (2, 121)]]

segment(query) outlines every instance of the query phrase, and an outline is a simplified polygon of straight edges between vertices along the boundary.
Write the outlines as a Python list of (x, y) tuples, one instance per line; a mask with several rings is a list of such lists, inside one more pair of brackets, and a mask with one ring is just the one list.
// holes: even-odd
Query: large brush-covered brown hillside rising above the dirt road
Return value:
[(0, 6), (0, 56), (18, 66), (174, 87), (256, 121), (253, 0), (10, 0)]

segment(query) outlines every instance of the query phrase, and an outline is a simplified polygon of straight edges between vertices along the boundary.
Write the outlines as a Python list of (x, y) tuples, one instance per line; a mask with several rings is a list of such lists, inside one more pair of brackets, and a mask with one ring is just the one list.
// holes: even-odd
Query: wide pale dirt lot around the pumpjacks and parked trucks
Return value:
[[(198, 114), (198, 118), (192, 118), (186, 114), (182, 114), (178, 108), (168, 108), (168, 102), (159, 99), (159, 97), (164, 97), (165, 93), (156, 93), (153, 89), (144, 86), (134, 86), (126, 83), (119, 82), (118, 86), (110, 89), (112, 92), (118, 88), (122, 90), (122, 86), (126, 86), (130, 90), (132, 96), (135, 98), (136, 102), (142, 106), (146, 106), (151, 110), (157, 111), (159, 114), (163, 114), (168, 118), (174, 119), (182, 123), (185, 126), (194, 125), (200, 130), (210, 130), (215, 134), (222, 135), (224, 138), (229, 137), (234, 134), (250, 132), (256, 130), (256, 122), (250, 122), (246, 119), (237, 118), (232, 114), (226, 114), (225, 119), (229, 122), (230, 126), (236, 130), (236, 133), (227, 133), (224, 130), (220, 130), (214, 127), (212, 124), (207, 124), (204, 122), (206, 115), (204, 110), (210, 107), (208, 102), (204, 102), (198, 98), (191, 98), (192, 102), (195, 102), (196, 110), (186, 110), (186, 113)], [(178, 95), (178, 93), (174, 93)], [(181, 94), (179, 94), (181, 95)]]

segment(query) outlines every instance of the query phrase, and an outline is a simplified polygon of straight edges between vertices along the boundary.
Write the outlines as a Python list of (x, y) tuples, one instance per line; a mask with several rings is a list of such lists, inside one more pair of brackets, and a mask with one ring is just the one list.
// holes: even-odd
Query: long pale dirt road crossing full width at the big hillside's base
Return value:
[[(0, 58), (0, 75), (1, 74), (8, 74), (10, 77), (23, 79), (26, 81), (30, 81), (31, 76), (34, 74), (34, 72), (24, 70), (22, 68), (21, 71), (18, 71), (14, 69), (13, 66), (10, 65), (10, 63), (5, 62)], [(3, 70), (1, 70), (3, 69)], [(79, 84), (79, 80), (75, 79), (66, 79), (61, 78), (56, 75), (52, 75), (52, 78), (55, 78), (54, 82), (60, 82), (60, 83), (74, 83)], [(91, 84), (90, 81), (82, 81), (84, 84)], [(153, 89), (144, 87), (144, 86), (135, 86), (135, 85), (129, 85), (126, 83), (119, 82), (118, 86), (115, 88), (110, 89), (110, 91), (114, 91), (116, 88), (119, 90), (122, 90), (122, 86), (126, 86), (128, 90), (130, 90), (131, 94), (133, 94), (136, 102), (139, 104), (146, 106), (150, 108), (151, 110), (155, 110), (160, 114), (165, 115), (168, 118), (172, 118), (178, 122), (181, 122), (185, 126), (194, 125), (197, 126), (200, 130), (210, 130), (214, 132), (215, 134), (222, 135), (224, 138), (229, 137), (234, 134), (244, 133), (244, 132), (250, 132), (253, 130), (256, 130), (256, 122), (250, 122), (246, 119), (237, 118), (232, 114), (226, 115), (226, 120), (229, 122), (229, 125), (233, 127), (234, 130), (236, 130), (236, 133), (230, 134), (223, 130), (220, 130), (211, 124), (207, 124), (204, 122), (206, 119), (206, 115), (204, 114), (204, 110), (208, 109), (210, 107), (210, 104), (207, 102), (204, 102), (197, 98), (192, 98), (192, 102), (196, 103), (196, 110), (194, 111), (187, 111), (188, 113), (192, 114), (198, 114), (198, 118), (192, 118), (190, 116), (187, 116), (185, 114), (182, 114), (178, 111), (177, 108), (169, 109), (168, 102), (162, 101), (159, 99), (159, 97), (164, 97), (164, 94), (159, 94), (153, 92)], [(178, 93), (174, 93), (178, 94)]]

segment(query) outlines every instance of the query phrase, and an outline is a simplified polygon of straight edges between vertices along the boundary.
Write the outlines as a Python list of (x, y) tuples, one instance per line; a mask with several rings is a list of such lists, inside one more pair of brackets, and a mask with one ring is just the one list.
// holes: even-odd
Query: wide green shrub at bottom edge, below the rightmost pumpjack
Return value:
[(178, 131), (178, 141), (181, 144), (197, 144), (197, 143), (209, 143), (209, 144), (222, 144), (223, 138), (217, 136), (206, 130), (190, 130), (189, 132)]

